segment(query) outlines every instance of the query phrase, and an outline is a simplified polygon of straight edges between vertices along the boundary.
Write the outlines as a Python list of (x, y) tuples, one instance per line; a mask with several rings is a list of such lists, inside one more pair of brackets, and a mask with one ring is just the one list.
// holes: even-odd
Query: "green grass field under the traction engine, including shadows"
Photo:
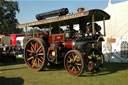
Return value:
[(105, 63), (97, 74), (84, 72), (75, 77), (63, 68), (31, 71), (20, 58), (0, 66), (0, 85), (128, 85), (128, 64)]

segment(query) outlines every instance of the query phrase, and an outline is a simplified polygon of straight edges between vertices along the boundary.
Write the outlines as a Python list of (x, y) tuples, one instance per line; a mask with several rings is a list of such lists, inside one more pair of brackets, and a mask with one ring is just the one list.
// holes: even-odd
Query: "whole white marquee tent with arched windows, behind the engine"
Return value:
[(102, 44), (105, 60), (128, 63), (128, 1), (112, 4), (104, 9), (110, 14), (106, 21), (106, 37)]

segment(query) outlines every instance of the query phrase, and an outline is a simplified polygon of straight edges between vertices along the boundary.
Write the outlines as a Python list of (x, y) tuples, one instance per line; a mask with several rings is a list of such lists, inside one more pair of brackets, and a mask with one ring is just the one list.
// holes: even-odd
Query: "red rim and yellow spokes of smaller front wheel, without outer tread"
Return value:
[(81, 56), (75, 52), (69, 53), (65, 58), (65, 68), (71, 75), (79, 76), (83, 72)]

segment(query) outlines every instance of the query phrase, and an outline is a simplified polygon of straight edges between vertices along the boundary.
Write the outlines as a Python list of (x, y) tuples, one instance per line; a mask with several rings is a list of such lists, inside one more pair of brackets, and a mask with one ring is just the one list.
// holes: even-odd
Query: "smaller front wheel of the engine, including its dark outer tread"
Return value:
[(64, 66), (71, 75), (79, 76), (84, 72), (85, 59), (79, 51), (70, 50), (65, 55)]

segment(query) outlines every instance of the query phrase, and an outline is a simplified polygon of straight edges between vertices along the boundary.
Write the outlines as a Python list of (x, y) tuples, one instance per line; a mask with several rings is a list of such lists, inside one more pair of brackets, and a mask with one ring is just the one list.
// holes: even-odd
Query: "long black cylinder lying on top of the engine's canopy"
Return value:
[(42, 20), (45, 18), (49, 18), (49, 17), (54, 17), (54, 16), (62, 16), (62, 15), (66, 15), (68, 14), (68, 8), (62, 8), (59, 10), (53, 10), (50, 12), (46, 12), (46, 13), (40, 13), (36, 15), (36, 19), (37, 20)]

